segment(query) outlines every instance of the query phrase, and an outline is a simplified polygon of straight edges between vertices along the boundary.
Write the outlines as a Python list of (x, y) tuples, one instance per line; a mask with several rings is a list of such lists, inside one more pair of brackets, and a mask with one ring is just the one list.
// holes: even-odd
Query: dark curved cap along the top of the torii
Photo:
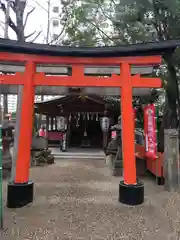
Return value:
[(35, 43), (20, 43), (0, 38), (0, 52), (66, 56), (66, 57), (128, 57), (164, 55), (180, 46), (180, 40), (147, 42), (142, 44), (119, 45), (112, 47), (68, 47)]

